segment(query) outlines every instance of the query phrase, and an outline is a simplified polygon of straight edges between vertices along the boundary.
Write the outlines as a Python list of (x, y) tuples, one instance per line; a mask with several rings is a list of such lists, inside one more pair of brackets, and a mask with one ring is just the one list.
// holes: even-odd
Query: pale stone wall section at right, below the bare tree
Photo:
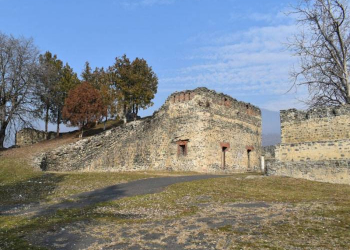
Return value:
[(280, 112), (281, 144), (268, 175), (350, 184), (350, 106)]

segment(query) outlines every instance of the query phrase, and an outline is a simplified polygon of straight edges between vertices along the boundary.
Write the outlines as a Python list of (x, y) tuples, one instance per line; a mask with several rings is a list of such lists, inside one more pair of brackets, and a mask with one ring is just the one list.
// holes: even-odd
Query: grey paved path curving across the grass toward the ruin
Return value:
[(54, 205), (36, 204), (24, 207), (0, 206), (0, 215), (48, 215), (54, 213), (58, 209), (82, 208), (100, 202), (113, 201), (124, 197), (153, 194), (161, 192), (165, 187), (175, 183), (204, 180), (217, 177), (224, 177), (224, 175), (194, 175), (142, 179), (74, 195), (70, 197), (74, 200), (73, 202), (66, 201)]

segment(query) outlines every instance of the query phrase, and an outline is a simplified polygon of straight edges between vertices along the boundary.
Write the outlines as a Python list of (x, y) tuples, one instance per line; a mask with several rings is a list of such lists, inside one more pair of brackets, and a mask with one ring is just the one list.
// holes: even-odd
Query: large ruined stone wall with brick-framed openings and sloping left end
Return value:
[(54, 171), (258, 171), (261, 111), (206, 88), (174, 93), (142, 120), (38, 156)]

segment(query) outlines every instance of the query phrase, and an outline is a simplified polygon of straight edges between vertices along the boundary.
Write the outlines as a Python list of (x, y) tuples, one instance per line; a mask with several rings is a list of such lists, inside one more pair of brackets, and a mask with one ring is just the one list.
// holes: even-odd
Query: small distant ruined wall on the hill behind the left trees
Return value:
[[(53, 139), (56, 137), (55, 132), (49, 132), (48, 133), (48, 139)], [(31, 129), (31, 128), (24, 128), (16, 133), (16, 146), (23, 147), (23, 146), (29, 146), (41, 141), (44, 141), (45, 138), (45, 132)]]

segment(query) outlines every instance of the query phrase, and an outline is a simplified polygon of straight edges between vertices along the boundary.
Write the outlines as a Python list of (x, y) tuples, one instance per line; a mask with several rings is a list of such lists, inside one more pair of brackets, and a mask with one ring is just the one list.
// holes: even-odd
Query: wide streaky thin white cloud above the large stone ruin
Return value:
[(283, 42), (294, 31), (291, 25), (269, 26), (207, 40), (214, 45), (203, 46), (187, 58), (202, 63), (161, 81), (183, 88), (225, 87), (235, 95), (283, 94), (290, 88), (289, 70), (295, 63)]

